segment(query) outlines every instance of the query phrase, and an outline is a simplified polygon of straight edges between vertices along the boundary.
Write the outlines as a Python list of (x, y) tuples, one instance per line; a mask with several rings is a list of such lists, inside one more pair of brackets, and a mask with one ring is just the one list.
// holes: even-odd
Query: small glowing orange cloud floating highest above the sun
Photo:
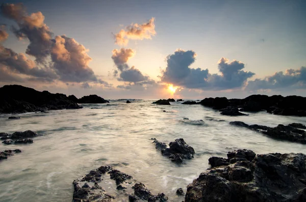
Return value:
[(151, 39), (156, 35), (155, 31), (155, 18), (151, 18), (147, 23), (131, 24), (125, 27), (125, 30), (120, 30), (119, 33), (114, 35), (115, 43), (118, 45), (127, 45), (129, 39), (143, 40)]

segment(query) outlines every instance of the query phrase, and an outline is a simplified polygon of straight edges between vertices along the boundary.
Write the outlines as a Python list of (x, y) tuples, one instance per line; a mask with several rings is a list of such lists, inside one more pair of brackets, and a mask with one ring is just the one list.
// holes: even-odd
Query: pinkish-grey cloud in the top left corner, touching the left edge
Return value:
[(28, 15), (25, 7), (20, 4), (2, 4), (1, 11), (3, 15), (17, 22), (18, 28), (12, 26), (16, 37), (20, 39), (27, 38), (30, 41), (25, 53), (35, 56), (36, 62), (43, 63), (49, 55), (52, 45), (52, 32), (44, 23), (44, 16), (41, 12)]

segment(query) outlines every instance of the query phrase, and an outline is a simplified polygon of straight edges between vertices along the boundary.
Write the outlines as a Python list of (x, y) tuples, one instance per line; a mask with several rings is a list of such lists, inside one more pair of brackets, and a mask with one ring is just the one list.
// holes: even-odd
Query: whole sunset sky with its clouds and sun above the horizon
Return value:
[(6, 1), (0, 86), (118, 98), (306, 96), (306, 2)]

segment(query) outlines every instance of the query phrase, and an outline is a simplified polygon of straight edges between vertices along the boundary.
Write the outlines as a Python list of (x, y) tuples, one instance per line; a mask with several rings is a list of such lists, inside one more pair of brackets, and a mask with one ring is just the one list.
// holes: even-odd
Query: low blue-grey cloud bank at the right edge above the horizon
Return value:
[(297, 70), (287, 69), (286, 72), (276, 72), (264, 79), (248, 81), (245, 88), (248, 91), (267, 89), (306, 89), (306, 67)]

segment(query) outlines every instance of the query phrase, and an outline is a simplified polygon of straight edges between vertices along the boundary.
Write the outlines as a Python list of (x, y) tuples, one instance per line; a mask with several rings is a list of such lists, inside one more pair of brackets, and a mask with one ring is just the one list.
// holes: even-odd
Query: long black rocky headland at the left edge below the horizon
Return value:
[(39, 92), (22, 85), (4, 85), (0, 88), (0, 113), (78, 108), (82, 107), (64, 94)]

